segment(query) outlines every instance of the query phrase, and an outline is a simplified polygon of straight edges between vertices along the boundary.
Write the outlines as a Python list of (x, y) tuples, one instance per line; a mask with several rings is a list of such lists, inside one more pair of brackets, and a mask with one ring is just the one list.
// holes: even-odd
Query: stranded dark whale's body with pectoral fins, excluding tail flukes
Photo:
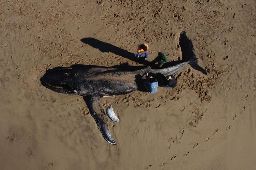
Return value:
[[(109, 132), (106, 112), (100, 103), (100, 98), (123, 95), (137, 90), (136, 75), (143, 75), (146, 72), (162, 73), (163, 75), (175, 74), (190, 62), (191, 60), (162, 69), (153, 70), (147, 67), (133, 71), (86, 65), (82, 68), (56, 68), (48, 70), (41, 77), (41, 84), (55, 92), (84, 96), (103, 137), (110, 144), (116, 144)], [(108, 116), (111, 120), (118, 120), (113, 114), (113, 109), (109, 113)]]

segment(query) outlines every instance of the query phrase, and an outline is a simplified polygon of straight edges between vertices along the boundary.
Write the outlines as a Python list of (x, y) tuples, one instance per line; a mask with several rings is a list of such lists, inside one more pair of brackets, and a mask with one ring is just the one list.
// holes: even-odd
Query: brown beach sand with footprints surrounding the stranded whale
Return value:
[[(256, 169), (255, 11), (254, 0), (0, 1), (0, 169)], [(82, 97), (40, 84), (57, 66), (139, 65), (83, 38), (132, 53), (147, 42), (149, 61), (172, 61), (182, 31), (207, 75), (187, 65), (174, 90), (102, 99), (121, 120), (109, 121), (116, 146)]]

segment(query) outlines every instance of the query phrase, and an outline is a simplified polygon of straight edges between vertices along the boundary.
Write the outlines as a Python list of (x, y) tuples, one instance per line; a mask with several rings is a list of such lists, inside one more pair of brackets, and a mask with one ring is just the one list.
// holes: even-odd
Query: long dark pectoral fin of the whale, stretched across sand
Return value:
[(104, 111), (102, 105), (100, 104), (100, 98), (97, 97), (91, 97), (91, 98), (84, 98), (86, 101), (86, 104), (90, 110), (90, 113), (92, 117), (95, 119), (98, 129), (101, 131), (104, 139), (112, 144), (115, 145), (116, 142), (112, 138), (109, 129), (108, 129), (108, 121), (107, 121), (107, 115)]

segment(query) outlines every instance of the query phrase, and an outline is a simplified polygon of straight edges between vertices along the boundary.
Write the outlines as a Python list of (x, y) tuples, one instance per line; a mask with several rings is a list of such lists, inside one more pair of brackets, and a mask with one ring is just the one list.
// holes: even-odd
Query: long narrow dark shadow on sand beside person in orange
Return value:
[(95, 38), (83, 38), (80, 40), (83, 43), (86, 43), (90, 46), (92, 46), (93, 48), (98, 48), (101, 52), (112, 52), (116, 55), (119, 55), (121, 57), (127, 58), (129, 60), (132, 60), (134, 62), (138, 62), (140, 64), (144, 64), (144, 65), (148, 65), (150, 62), (147, 60), (137, 60), (137, 57), (135, 57), (135, 54), (132, 52), (129, 52), (125, 49), (119, 48), (115, 45), (112, 45), (110, 43), (107, 42), (102, 42), (100, 40), (97, 40)]

